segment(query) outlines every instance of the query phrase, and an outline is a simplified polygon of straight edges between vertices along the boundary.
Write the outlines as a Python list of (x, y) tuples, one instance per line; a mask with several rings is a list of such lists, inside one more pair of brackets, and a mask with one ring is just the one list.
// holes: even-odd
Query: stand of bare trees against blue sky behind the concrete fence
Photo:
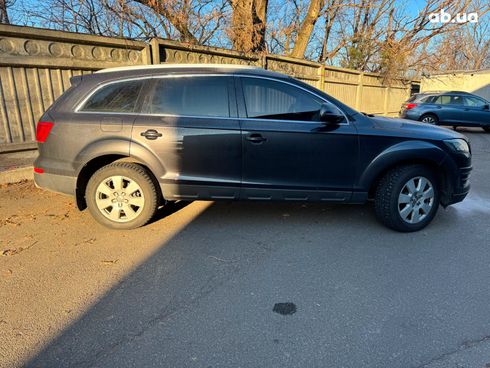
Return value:
[[(0, 0), (3, 22), (22, 10), (24, 24), (269, 51), (386, 78), (490, 63), (486, 0), (425, 0), (417, 13), (411, 0), (24, 0), (7, 16), (12, 1)], [(441, 9), (476, 11), (480, 22), (430, 22)]]

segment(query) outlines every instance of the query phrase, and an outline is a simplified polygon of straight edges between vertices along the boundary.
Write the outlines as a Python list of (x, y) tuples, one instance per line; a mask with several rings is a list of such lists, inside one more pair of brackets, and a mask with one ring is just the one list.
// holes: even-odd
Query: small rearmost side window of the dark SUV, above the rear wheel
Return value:
[(81, 108), (94, 112), (134, 112), (144, 81), (112, 83), (95, 92)]

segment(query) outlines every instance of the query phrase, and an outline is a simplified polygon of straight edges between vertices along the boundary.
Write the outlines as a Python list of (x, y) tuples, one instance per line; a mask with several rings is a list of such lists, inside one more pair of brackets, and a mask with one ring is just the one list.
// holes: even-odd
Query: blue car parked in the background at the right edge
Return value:
[(468, 92), (426, 92), (410, 97), (400, 111), (403, 119), (434, 125), (481, 127), (490, 132), (490, 102)]

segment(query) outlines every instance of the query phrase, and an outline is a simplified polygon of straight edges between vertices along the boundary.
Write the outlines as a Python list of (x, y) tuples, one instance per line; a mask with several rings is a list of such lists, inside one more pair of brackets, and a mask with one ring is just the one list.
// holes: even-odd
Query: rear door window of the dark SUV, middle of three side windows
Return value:
[(159, 78), (155, 83), (152, 114), (230, 116), (227, 77)]

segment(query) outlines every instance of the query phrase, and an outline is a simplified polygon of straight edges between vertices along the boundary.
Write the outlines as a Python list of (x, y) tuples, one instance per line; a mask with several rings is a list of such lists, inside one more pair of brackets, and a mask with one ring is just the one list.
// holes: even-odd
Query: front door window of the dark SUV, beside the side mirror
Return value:
[(249, 118), (317, 120), (323, 101), (286, 83), (260, 78), (242, 78)]

